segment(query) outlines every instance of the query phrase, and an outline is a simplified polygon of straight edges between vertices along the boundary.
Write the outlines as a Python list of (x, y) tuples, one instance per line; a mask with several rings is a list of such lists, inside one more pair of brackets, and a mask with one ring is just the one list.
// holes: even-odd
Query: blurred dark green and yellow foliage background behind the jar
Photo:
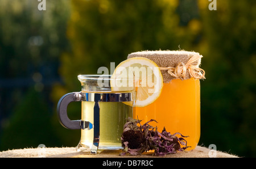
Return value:
[[(141, 50), (195, 51), (201, 68), (199, 145), (256, 157), (256, 1), (0, 0), (0, 151), (76, 146), (56, 105), (79, 74)], [(68, 107), (80, 119), (79, 103)]]

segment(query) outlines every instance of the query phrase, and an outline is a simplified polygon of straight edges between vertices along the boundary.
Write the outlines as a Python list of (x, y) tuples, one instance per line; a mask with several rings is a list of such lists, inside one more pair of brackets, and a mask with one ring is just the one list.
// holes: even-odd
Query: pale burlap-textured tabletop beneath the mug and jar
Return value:
[(104, 150), (99, 151), (97, 154), (90, 154), (89, 149), (77, 152), (75, 147), (46, 147), (46, 148), (29, 148), (29, 149), (15, 149), (0, 152), (0, 158), (11, 157), (48, 157), (48, 158), (234, 158), (236, 155), (224, 153), (221, 151), (214, 151), (207, 147), (197, 146), (196, 149), (187, 152), (177, 152), (174, 154), (168, 154), (164, 157), (155, 157), (152, 153), (143, 153), (142, 155), (124, 155), (119, 156), (122, 150)]

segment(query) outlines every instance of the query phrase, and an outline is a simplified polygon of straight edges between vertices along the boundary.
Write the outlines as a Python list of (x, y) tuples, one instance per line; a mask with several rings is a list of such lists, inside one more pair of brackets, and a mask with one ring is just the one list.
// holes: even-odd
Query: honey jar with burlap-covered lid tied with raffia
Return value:
[(200, 69), (201, 56), (183, 50), (142, 51), (129, 54), (154, 61), (163, 75), (163, 88), (158, 99), (146, 107), (134, 107), (134, 119), (158, 121), (162, 132), (179, 132), (186, 138), (187, 150), (195, 149), (200, 139), (200, 79), (205, 72)]

